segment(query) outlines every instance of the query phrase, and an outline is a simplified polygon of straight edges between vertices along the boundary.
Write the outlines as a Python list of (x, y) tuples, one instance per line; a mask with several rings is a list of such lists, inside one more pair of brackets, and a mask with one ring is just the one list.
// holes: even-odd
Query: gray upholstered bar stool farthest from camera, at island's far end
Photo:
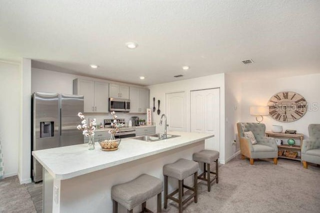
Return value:
[[(214, 150), (202, 150), (200, 152), (196, 152), (193, 154), (193, 161), (203, 162), (203, 173), (198, 176), (198, 179), (202, 181), (206, 181), (208, 192), (210, 192), (211, 183), (214, 180), (215, 180), (215, 183), (219, 183), (218, 159), (219, 159), (219, 152)], [(210, 164), (212, 164), (213, 162), (215, 162), (215, 172), (210, 171)], [(207, 168), (205, 168), (205, 165), (207, 165)], [(207, 178), (205, 178), (205, 173)], [(212, 180), (210, 180), (210, 173), (215, 175)]]

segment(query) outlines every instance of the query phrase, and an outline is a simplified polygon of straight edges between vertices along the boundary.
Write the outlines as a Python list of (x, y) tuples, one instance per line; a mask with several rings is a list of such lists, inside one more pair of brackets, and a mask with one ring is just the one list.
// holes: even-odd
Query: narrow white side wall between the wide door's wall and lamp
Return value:
[(236, 123), (241, 115), (241, 83), (238, 79), (225, 74), (225, 162), (231, 160), (237, 154), (239, 141), (236, 144)]

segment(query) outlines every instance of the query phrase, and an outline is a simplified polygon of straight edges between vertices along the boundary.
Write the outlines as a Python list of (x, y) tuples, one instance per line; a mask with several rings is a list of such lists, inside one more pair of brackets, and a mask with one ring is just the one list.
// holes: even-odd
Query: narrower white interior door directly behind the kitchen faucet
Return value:
[(165, 112), (168, 131), (186, 131), (186, 101), (184, 92), (165, 94)]

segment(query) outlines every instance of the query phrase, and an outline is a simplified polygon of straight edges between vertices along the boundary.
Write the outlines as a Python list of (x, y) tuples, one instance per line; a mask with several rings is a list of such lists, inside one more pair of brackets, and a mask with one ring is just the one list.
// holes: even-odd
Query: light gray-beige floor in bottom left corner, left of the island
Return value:
[(36, 213), (25, 184), (17, 176), (0, 181), (0, 213)]

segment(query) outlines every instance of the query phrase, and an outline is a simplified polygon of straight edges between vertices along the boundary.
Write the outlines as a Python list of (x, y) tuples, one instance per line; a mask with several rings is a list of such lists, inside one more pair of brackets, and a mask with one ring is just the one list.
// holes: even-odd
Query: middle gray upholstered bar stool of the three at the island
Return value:
[[(182, 206), (190, 199), (194, 198), (194, 203), (197, 203), (197, 175), (198, 175), (198, 163), (186, 159), (179, 159), (172, 164), (166, 164), (163, 166), (164, 176), (164, 209), (167, 208), (168, 199), (178, 203), (179, 213), (182, 213)], [(185, 186), (183, 180), (189, 176), (194, 176), (193, 188)], [(168, 177), (175, 178), (178, 180), (178, 189), (168, 195)], [(191, 190), (193, 193), (182, 200), (183, 188)], [(178, 199), (173, 198), (173, 195), (178, 193)]]

